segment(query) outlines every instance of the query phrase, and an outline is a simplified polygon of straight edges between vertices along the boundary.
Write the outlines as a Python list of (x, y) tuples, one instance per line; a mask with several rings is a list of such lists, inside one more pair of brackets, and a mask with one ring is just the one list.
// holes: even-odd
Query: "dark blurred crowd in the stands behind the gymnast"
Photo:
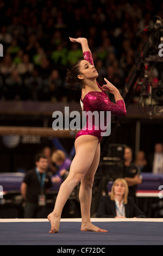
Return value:
[[(72, 101), (67, 68), (83, 57), (68, 37), (88, 39), (98, 71), (123, 90), (148, 35), (136, 36), (163, 18), (159, 0), (0, 0), (0, 98), (2, 100)], [(159, 78), (159, 77), (158, 77)]]

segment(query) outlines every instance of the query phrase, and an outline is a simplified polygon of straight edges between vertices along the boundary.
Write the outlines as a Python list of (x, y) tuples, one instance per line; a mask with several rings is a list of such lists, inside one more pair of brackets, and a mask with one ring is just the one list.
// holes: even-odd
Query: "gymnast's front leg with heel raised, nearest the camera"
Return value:
[(83, 135), (76, 139), (74, 143), (76, 155), (71, 163), (70, 173), (60, 186), (53, 212), (48, 215), (48, 220), (51, 222), (50, 233), (59, 231), (62, 209), (74, 187), (79, 184), (91, 166), (97, 145), (98, 139), (91, 135)]

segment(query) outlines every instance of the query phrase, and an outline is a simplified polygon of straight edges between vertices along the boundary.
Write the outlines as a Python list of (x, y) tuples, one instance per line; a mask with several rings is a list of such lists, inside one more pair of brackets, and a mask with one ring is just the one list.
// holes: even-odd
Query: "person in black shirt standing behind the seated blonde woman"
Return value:
[(129, 187), (129, 197), (135, 199), (137, 185), (142, 183), (140, 167), (133, 162), (133, 150), (130, 147), (124, 149), (124, 179)]

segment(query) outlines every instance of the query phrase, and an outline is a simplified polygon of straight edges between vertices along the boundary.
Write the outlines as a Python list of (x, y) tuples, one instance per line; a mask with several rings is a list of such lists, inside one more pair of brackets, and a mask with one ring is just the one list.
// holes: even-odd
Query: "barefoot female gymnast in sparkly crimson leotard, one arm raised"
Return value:
[[(82, 84), (81, 101), (84, 110), (87, 111), (111, 111), (111, 114), (118, 116), (126, 115), (126, 107), (118, 89), (113, 86), (106, 78), (106, 84), (102, 87), (96, 81), (98, 73), (93, 65), (92, 54), (87, 44), (86, 38), (70, 38), (71, 42), (78, 42), (82, 45), (84, 59), (79, 60), (71, 70), (68, 70), (66, 80), (68, 84), (80, 82)], [(109, 91), (115, 97), (115, 102), (110, 101)], [(82, 215), (81, 231), (107, 232), (107, 230), (96, 227), (91, 223), (90, 209), (92, 200), (92, 185), (94, 176), (100, 159), (100, 141), (102, 139), (101, 130), (95, 127), (90, 130), (86, 123), (86, 130), (80, 130), (74, 142), (76, 155), (71, 163), (70, 173), (66, 180), (61, 184), (55, 202), (54, 210), (48, 215), (51, 222), (49, 233), (58, 233), (61, 212), (67, 199), (70, 197), (74, 187), (80, 182), (79, 200)]]

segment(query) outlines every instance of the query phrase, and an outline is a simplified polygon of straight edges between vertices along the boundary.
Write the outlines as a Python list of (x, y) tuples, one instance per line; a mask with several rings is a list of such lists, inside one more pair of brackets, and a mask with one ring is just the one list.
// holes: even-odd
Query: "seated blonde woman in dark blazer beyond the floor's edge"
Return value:
[(101, 198), (97, 218), (146, 218), (143, 212), (128, 197), (126, 180), (118, 178), (114, 181), (110, 196)]

